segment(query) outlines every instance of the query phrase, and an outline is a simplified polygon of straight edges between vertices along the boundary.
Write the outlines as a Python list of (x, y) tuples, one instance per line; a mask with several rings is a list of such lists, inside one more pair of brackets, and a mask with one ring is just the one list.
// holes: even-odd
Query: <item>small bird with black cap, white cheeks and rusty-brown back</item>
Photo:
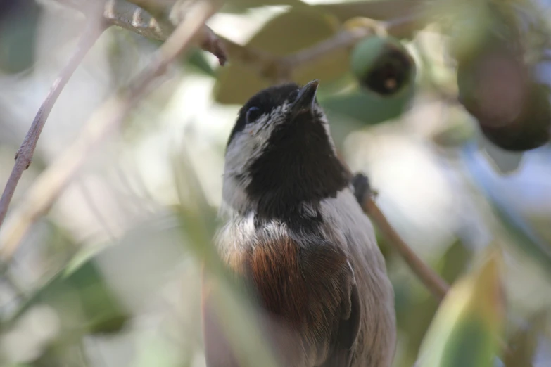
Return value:
[[(239, 111), (217, 251), (251, 285), (281, 366), (389, 367), (393, 288), (317, 103), (318, 84), (271, 86)], [(203, 290), (207, 366), (241, 366), (212, 309)]]

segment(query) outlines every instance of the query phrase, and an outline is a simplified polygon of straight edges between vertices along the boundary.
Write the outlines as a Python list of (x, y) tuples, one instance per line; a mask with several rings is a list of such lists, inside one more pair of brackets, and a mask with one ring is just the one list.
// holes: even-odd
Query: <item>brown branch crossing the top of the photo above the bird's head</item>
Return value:
[[(85, 0), (55, 0), (61, 4), (72, 6), (73, 8), (83, 8)], [(108, 0), (106, 1), (103, 16), (110, 25), (117, 25), (131, 32), (143, 35), (149, 39), (164, 41), (174, 29), (175, 20), (180, 20), (182, 15), (177, 15), (172, 20), (170, 14), (174, 13), (168, 9), (173, 1), (160, 1), (160, 5), (151, 0)], [(76, 5), (78, 4), (78, 5)], [(367, 27), (355, 27), (351, 30), (342, 30), (334, 37), (324, 40), (319, 44), (293, 53), (289, 56), (274, 56), (270, 53), (252, 49), (251, 47), (241, 46), (224, 37), (215, 34), (206, 25), (201, 30), (203, 36), (200, 37), (198, 46), (203, 50), (213, 53), (220, 65), (224, 65), (229, 58), (239, 60), (241, 63), (250, 65), (259, 71), (259, 74), (279, 82), (281, 79), (289, 79), (293, 70), (302, 65), (310, 63), (324, 55), (332, 53), (338, 49), (346, 49), (353, 46), (360, 39), (374, 33), (372, 25), (378, 25), (389, 34), (403, 34), (404, 28), (411, 28), (422, 18), (424, 12), (415, 11), (411, 15), (402, 18), (395, 18), (386, 22), (370, 22)], [(420, 22), (419, 22), (420, 23)]]

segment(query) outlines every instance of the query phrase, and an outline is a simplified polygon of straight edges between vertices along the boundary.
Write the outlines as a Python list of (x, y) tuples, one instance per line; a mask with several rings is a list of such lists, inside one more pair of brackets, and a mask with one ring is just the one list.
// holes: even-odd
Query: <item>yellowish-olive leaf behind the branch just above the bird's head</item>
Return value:
[[(293, 8), (267, 22), (246, 47), (274, 56), (286, 56), (331, 37), (337, 30), (338, 22), (331, 15), (312, 7)], [(348, 68), (348, 51), (335, 51), (298, 68), (292, 79), (300, 84), (320, 79), (323, 86), (344, 75)], [(258, 70), (251, 65), (232, 60), (220, 68), (215, 100), (224, 104), (242, 104), (270, 84), (270, 80), (260, 77)]]

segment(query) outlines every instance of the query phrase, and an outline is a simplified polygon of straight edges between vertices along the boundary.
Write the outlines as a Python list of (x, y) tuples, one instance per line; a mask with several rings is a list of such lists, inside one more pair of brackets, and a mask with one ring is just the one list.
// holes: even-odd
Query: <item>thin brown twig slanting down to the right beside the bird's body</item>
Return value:
[(419, 277), (422, 283), (429, 288), (438, 300), (442, 300), (450, 286), (427, 266), (422, 259), (419, 259), (415, 252), (404, 242), (400, 235), (395, 231), (393, 226), (388, 223), (388, 220), (384, 216), (383, 212), (373, 201), (371, 195), (365, 195), (365, 200), (362, 205), (364, 212), (372, 219), (379, 231), (383, 233), (388, 243), (398, 250), (410, 269)]

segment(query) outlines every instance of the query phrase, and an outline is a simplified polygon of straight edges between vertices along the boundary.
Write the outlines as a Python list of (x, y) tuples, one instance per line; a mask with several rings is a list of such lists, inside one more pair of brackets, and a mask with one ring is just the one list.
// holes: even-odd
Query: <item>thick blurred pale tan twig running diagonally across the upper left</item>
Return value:
[(205, 21), (215, 13), (217, 7), (210, 1), (199, 1), (189, 9), (189, 17), (178, 25), (170, 37), (160, 46), (156, 57), (135, 77), (128, 88), (113, 96), (84, 125), (79, 136), (65, 153), (44, 170), (32, 184), (21, 205), (13, 212), (3, 231), (0, 232), (0, 260), (7, 262), (20, 244), (29, 227), (46, 210), (67, 186), (75, 172), (90, 155), (94, 147), (120, 126), (130, 110), (152, 88), (158, 76), (167, 65), (191, 46), (200, 35)]

